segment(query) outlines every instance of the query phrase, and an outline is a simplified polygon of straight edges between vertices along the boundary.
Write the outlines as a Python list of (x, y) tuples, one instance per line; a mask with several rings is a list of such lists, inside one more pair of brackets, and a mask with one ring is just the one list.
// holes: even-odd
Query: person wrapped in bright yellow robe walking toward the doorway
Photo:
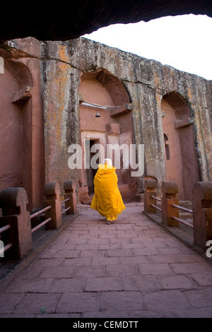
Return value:
[(107, 224), (117, 220), (117, 215), (125, 209), (115, 171), (112, 160), (104, 159), (103, 165), (98, 165), (98, 171), (93, 180), (95, 194), (90, 207), (98, 211), (102, 217), (105, 217)]

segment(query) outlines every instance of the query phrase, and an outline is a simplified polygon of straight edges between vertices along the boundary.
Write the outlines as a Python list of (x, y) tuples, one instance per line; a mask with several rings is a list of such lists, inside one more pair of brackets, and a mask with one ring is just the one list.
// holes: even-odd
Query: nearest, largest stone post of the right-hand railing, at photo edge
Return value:
[(192, 196), (194, 244), (206, 249), (212, 239), (212, 181), (196, 182)]

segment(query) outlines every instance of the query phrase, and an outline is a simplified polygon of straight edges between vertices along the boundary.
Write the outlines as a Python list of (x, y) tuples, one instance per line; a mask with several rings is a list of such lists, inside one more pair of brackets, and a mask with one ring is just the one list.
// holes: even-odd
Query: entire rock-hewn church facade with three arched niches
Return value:
[[(45, 182), (76, 182), (79, 201), (93, 194), (92, 167), (69, 167), (70, 146), (144, 146), (144, 172), (117, 169), (125, 201), (145, 177), (176, 181), (180, 200), (211, 180), (212, 82), (83, 37), (1, 45), (0, 190), (23, 186), (29, 208), (43, 203)], [(96, 115), (99, 115), (98, 117)], [(88, 151), (87, 151), (88, 150)], [(114, 157), (114, 156), (113, 156)]]

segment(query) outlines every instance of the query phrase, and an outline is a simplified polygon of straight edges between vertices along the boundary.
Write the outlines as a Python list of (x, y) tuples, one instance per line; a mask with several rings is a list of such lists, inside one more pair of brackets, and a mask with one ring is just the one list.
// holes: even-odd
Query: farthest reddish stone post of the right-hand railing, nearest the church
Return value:
[(146, 179), (144, 182), (144, 211), (146, 213), (157, 213), (157, 209), (151, 206), (151, 204), (157, 205), (156, 199), (151, 197), (156, 197), (156, 187), (157, 181), (155, 179)]

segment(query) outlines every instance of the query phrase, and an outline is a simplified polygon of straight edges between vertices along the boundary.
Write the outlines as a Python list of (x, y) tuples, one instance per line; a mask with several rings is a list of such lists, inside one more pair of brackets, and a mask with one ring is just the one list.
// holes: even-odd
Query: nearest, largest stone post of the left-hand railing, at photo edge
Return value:
[(12, 247), (5, 252), (7, 259), (23, 259), (33, 249), (30, 213), (27, 211), (28, 196), (24, 188), (6, 188), (0, 193), (2, 217), (0, 227), (11, 227), (1, 233), (4, 246)]

